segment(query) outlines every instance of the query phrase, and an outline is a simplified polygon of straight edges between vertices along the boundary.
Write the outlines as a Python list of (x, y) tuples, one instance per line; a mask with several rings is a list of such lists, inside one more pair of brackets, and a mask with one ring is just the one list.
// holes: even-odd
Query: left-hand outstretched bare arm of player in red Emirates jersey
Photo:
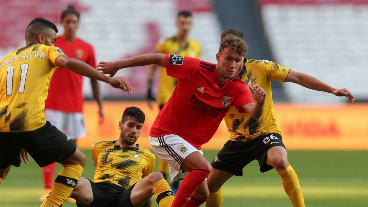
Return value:
[(165, 56), (166, 54), (163, 53), (149, 53), (115, 62), (100, 62), (100, 64), (97, 65), (97, 70), (102, 71), (103, 74), (110, 74), (110, 77), (113, 77), (118, 70), (127, 67), (146, 66), (151, 64), (165, 67)]

